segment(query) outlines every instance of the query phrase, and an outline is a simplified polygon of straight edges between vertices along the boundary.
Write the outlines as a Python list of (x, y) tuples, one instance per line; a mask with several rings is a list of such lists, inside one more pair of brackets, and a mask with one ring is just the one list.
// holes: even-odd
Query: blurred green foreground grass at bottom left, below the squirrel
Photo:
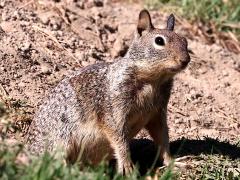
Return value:
[[(21, 160), (20, 157), (25, 157)], [(27, 160), (26, 160), (27, 159)], [(24, 162), (25, 161), (25, 162)], [(40, 157), (31, 157), (23, 151), (23, 146), (6, 145), (0, 143), (0, 179), (19, 180), (52, 180), (52, 179), (145, 179), (150, 174), (140, 176), (135, 170), (130, 176), (121, 176), (107, 163), (101, 163), (97, 167), (86, 166), (80, 168), (79, 164), (68, 165), (63, 160), (45, 153)], [(158, 176), (157, 176), (158, 177)], [(161, 179), (167, 180), (173, 177), (171, 170), (166, 170)]]

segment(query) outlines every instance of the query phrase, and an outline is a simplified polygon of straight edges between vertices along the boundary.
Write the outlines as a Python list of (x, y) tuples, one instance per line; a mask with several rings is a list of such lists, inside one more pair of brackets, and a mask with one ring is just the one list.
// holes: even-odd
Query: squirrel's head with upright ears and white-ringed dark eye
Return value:
[(157, 29), (152, 25), (149, 12), (140, 12), (136, 35), (127, 56), (136, 64), (141, 78), (171, 76), (189, 63), (187, 40), (173, 32), (174, 24), (175, 18), (171, 14), (166, 28)]

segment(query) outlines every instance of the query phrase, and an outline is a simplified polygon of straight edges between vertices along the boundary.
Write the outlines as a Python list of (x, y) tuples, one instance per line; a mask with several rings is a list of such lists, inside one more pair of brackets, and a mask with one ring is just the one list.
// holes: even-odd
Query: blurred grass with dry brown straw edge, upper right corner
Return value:
[[(239, 0), (145, 0), (145, 4), (150, 9), (173, 12), (186, 18), (207, 34), (205, 37), (210, 43), (220, 39), (221, 45), (229, 50), (234, 45), (239, 52)], [(226, 40), (231, 42), (224, 42)]]

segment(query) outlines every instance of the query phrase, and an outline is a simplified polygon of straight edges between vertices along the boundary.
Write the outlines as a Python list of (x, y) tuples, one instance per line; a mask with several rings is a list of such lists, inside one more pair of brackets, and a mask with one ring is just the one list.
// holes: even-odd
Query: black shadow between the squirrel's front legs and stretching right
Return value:
[[(145, 174), (155, 160), (157, 147), (149, 139), (134, 139), (130, 147), (133, 162), (139, 165), (140, 173)], [(211, 138), (205, 138), (204, 140), (183, 138), (171, 142), (170, 148), (171, 154), (175, 157), (219, 154), (228, 156), (233, 160), (240, 158), (240, 147)], [(162, 166), (162, 162), (157, 161), (155, 167), (159, 166)]]

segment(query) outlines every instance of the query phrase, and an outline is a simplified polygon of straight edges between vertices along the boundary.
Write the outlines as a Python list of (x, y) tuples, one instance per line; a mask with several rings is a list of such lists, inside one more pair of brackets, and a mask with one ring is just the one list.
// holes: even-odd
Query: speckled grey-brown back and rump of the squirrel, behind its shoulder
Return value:
[(82, 133), (88, 141), (96, 140), (100, 133), (94, 133), (97, 131), (94, 128), (104, 100), (105, 87), (101, 84), (105, 84), (107, 70), (106, 63), (82, 68), (63, 79), (50, 92), (30, 127), (27, 141), (31, 152), (42, 153), (46, 147), (52, 151), (59, 145), (66, 148), (73, 134)]

